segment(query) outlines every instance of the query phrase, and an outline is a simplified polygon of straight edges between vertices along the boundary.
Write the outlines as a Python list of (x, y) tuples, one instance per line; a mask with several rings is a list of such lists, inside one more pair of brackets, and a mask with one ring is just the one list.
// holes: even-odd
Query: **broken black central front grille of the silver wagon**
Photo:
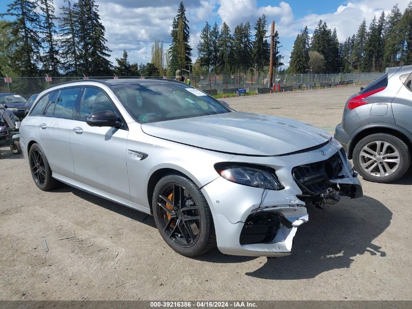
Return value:
[(292, 175), (303, 194), (315, 196), (331, 186), (329, 180), (335, 179), (342, 168), (343, 162), (338, 151), (324, 161), (295, 166)]

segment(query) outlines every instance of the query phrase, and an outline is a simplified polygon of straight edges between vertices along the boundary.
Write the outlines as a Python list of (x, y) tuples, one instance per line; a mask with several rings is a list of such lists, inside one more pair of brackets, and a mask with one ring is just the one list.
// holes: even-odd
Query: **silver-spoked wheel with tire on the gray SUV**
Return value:
[(411, 163), (408, 146), (397, 137), (372, 134), (353, 149), (353, 165), (363, 178), (377, 183), (392, 182), (405, 174)]

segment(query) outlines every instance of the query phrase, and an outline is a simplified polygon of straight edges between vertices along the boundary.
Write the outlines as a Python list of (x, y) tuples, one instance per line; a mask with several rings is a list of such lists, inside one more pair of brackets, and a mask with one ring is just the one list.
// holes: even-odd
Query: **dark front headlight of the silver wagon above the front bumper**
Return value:
[(266, 166), (220, 163), (215, 165), (215, 169), (220, 176), (236, 184), (271, 190), (284, 189), (275, 170)]

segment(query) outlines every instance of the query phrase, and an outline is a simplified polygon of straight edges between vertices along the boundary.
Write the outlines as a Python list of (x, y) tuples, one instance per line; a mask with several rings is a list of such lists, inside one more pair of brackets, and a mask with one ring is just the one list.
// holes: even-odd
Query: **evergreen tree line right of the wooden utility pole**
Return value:
[(336, 29), (319, 21), (312, 38), (308, 27), (294, 41), (287, 73), (382, 72), (386, 67), (412, 64), (412, 1), (403, 14), (398, 5), (385, 16), (366, 20), (344, 42)]

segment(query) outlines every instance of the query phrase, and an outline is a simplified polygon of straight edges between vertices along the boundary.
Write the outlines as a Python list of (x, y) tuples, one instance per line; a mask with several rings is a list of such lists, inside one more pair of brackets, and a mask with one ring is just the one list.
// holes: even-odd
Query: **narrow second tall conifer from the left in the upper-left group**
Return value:
[(54, 15), (53, 0), (39, 0), (39, 8), (43, 13), (43, 22), (40, 24), (40, 32), (43, 34), (41, 42), (45, 53), (42, 56), (43, 70), (57, 76), (59, 74), (59, 51), (55, 36), (56, 30), (56, 16)]

